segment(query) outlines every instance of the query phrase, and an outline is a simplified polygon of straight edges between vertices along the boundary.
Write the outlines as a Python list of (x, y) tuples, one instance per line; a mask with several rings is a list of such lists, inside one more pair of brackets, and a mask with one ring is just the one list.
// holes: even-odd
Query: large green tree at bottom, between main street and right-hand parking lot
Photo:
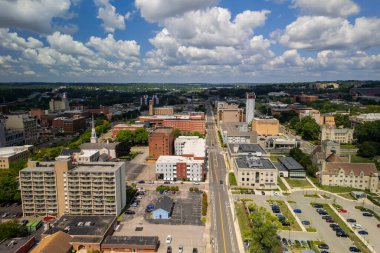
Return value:
[(249, 252), (277, 252), (280, 245), (280, 240), (277, 236), (278, 218), (265, 208), (257, 207), (255, 204), (251, 204), (250, 208), (254, 211), (249, 215), (252, 222), (252, 244)]

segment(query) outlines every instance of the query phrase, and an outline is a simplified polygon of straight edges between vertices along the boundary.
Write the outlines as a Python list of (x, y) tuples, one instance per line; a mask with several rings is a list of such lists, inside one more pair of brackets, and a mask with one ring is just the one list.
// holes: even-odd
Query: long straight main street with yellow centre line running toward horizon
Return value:
[(223, 150), (219, 147), (212, 108), (207, 110), (207, 146), (209, 161), (209, 186), (211, 219), (211, 241), (215, 253), (238, 253), (234, 228), (234, 217), (228, 199), (227, 169)]

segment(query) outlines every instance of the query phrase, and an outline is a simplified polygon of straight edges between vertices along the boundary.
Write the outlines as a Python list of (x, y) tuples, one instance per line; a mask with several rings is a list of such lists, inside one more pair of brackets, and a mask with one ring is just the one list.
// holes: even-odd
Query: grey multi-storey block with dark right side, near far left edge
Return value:
[(38, 139), (37, 119), (28, 114), (7, 115), (5, 125), (7, 130), (22, 131), (25, 144), (33, 144)]

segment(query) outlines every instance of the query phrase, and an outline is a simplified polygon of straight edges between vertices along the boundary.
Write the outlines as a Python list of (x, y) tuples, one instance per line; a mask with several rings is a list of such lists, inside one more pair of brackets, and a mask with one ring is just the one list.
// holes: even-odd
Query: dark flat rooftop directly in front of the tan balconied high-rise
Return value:
[(101, 236), (107, 232), (109, 226), (116, 219), (113, 215), (63, 215), (55, 227), (44, 234), (51, 235), (58, 231), (65, 231), (73, 237)]

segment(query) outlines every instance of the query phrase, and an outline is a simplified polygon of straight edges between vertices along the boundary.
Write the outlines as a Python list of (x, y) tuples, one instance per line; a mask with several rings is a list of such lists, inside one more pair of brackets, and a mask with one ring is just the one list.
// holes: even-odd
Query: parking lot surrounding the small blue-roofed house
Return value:
[(145, 189), (145, 194), (138, 198), (140, 204), (128, 209), (135, 214), (126, 214), (114, 234), (117, 236), (158, 236), (161, 242), (158, 250), (160, 253), (166, 252), (168, 246), (165, 242), (166, 237), (172, 235), (170, 245), (173, 252), (178, 252), (179, 245), (183, 246), (185, 253), (192, 252), (193, 248), (197, 248), (198, 252), (205, 252), (205, 226), (201, 223), (201, 194), (189, 192), (188, 187), (183, 187), (175, 194), (167, 193), (166, 196), (174, 201), (172, 217), (167, 221), (148, 220), (149, 213), (145, 212), (146, 206), (154, 205), (156, 200), (163, 195), (154, 190)]

